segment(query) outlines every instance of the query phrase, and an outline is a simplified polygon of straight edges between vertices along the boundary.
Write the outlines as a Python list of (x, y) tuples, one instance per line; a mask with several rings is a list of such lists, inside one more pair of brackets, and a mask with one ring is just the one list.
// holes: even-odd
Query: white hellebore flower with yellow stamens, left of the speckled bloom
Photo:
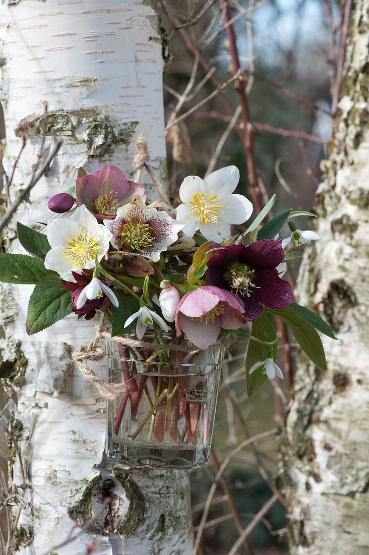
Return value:
[(45, 268), (55, 270), (63, 279), (75, 281), (72, 271), (95, 268), (109, 250), (112, 234), (82, 205), (71, 218), (50, 220), (46, 235), (51, 249), (45, 258)]

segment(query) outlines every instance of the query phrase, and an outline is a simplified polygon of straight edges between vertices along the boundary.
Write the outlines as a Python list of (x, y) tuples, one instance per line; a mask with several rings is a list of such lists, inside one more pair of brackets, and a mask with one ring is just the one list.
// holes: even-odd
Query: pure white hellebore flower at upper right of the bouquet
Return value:
[(243, 224), (252, 214), (252, 204), (243, 195), (231, 194), (240, 180), (236, 166), (213, 171), (205, 179), (189, 175), (179, 196), (183, 204), (177, 218), (185, 221), (183, 233), (193, 237), (200, 229), (208, 241), (224, 241), (231, 235), (230, 224)]

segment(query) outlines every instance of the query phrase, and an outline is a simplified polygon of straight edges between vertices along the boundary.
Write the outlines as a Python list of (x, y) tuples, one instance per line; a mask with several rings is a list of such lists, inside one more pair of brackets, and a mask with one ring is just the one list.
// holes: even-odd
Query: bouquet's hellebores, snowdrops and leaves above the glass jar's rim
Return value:
[[(129, 181), (116, 166), (87, 175), (80, 168), (75, 187), (48, 202), (59, 216), (46, 234), (18, 223), (18, 239), (28, 255), (1, 254), (0, 280), (36, 284), (29, 299), (28, 334), (74, 312), (90, 319), (97, 310), (112, 324), (112, 335), (135, 329), (171, 332), (176, 341), (208, 349), (230, 331), (250, 338), (246, 357), (249, 395), (275, 375), (279, 337), (265, 315), (278, 315), (291, 327), (306, 355), (326, 369), (316, 330), (330, 337), (330, 327), (314, 312), (294, 302), (282, 279), (286, 263), (299, 256), (286, 251), (320, 239), (291, 221), (307, 212), (291, 209), (260, 226), (274, 205), (267, 203), (243, 233), (252, 204), (234, 194), (235, 166), (214, 171), (204, 180), (191, 175), (179, 189), (174, 208), (161, 200), (146, 203), (143, 186)], [(287, 223), (291, 235), (279, 239)], [(248, 322), (252, 322), (251, 330)]]

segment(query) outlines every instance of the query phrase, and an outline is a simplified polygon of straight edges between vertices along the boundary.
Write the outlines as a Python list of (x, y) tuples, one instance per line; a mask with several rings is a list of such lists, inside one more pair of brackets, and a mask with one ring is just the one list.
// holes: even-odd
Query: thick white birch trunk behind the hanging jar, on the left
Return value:
[[(161, 34), (155, 2), (145, 0), (22, 0), (3, 4), (0, 17), (8, 170), (27, 135), (12, 199), (37, 163), (46, 103), (44, 154), (52, 148), (52, 133), (63, 140), (52, 169), (3, 235), (3, 250), (24, 254), (16, 220), (44, 229), (36, 223), (55, 217), (47, 200), (74, 184), (79, 166), (91, 173), (109, 163), (133, 176), (134, 139), (140, 134), (155, 173), (166, 182)], [(143, 179), (148, 179), (145, 173)], [(149, 198), (156, 198), (153, 185), (143, 184)], [(0, 292), (5, 385), (15, 401), (9, 426), (27, 469), (26, 495), (35, 506), (33, 514), (21, 513), (14, 552), (49, 553), (75, 533), (76, 523), (98, 515), (73, 543), (52, 552), (82, 555), (98, 538), (96, 553), (104, 555), (191, 553), (188, 473), (114, 474), (100, 464), (104, 403), (77, 369), (70, 370), (70, 352), (92, 339), (96, 322), (71, 315), (28, 337), (24, 322), (31, 292), (31, 286), (9, 284)], [(19, 465), (13, 453), (10, 458), (11, 481), (17, 485)]]

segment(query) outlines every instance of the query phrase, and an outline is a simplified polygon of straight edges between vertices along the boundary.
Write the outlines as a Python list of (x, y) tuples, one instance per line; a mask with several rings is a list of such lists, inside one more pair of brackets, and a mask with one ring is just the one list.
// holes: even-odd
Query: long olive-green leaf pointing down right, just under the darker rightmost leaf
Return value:
[(270, 309), (265, 306), (264, 310), (276, 314), (289, 325), (297, 343), (309, 359), (322, 370), (327, 370), (325, 353), (318, 332), (309, 322), (297, 314), (292, 305), (280, 310)]

